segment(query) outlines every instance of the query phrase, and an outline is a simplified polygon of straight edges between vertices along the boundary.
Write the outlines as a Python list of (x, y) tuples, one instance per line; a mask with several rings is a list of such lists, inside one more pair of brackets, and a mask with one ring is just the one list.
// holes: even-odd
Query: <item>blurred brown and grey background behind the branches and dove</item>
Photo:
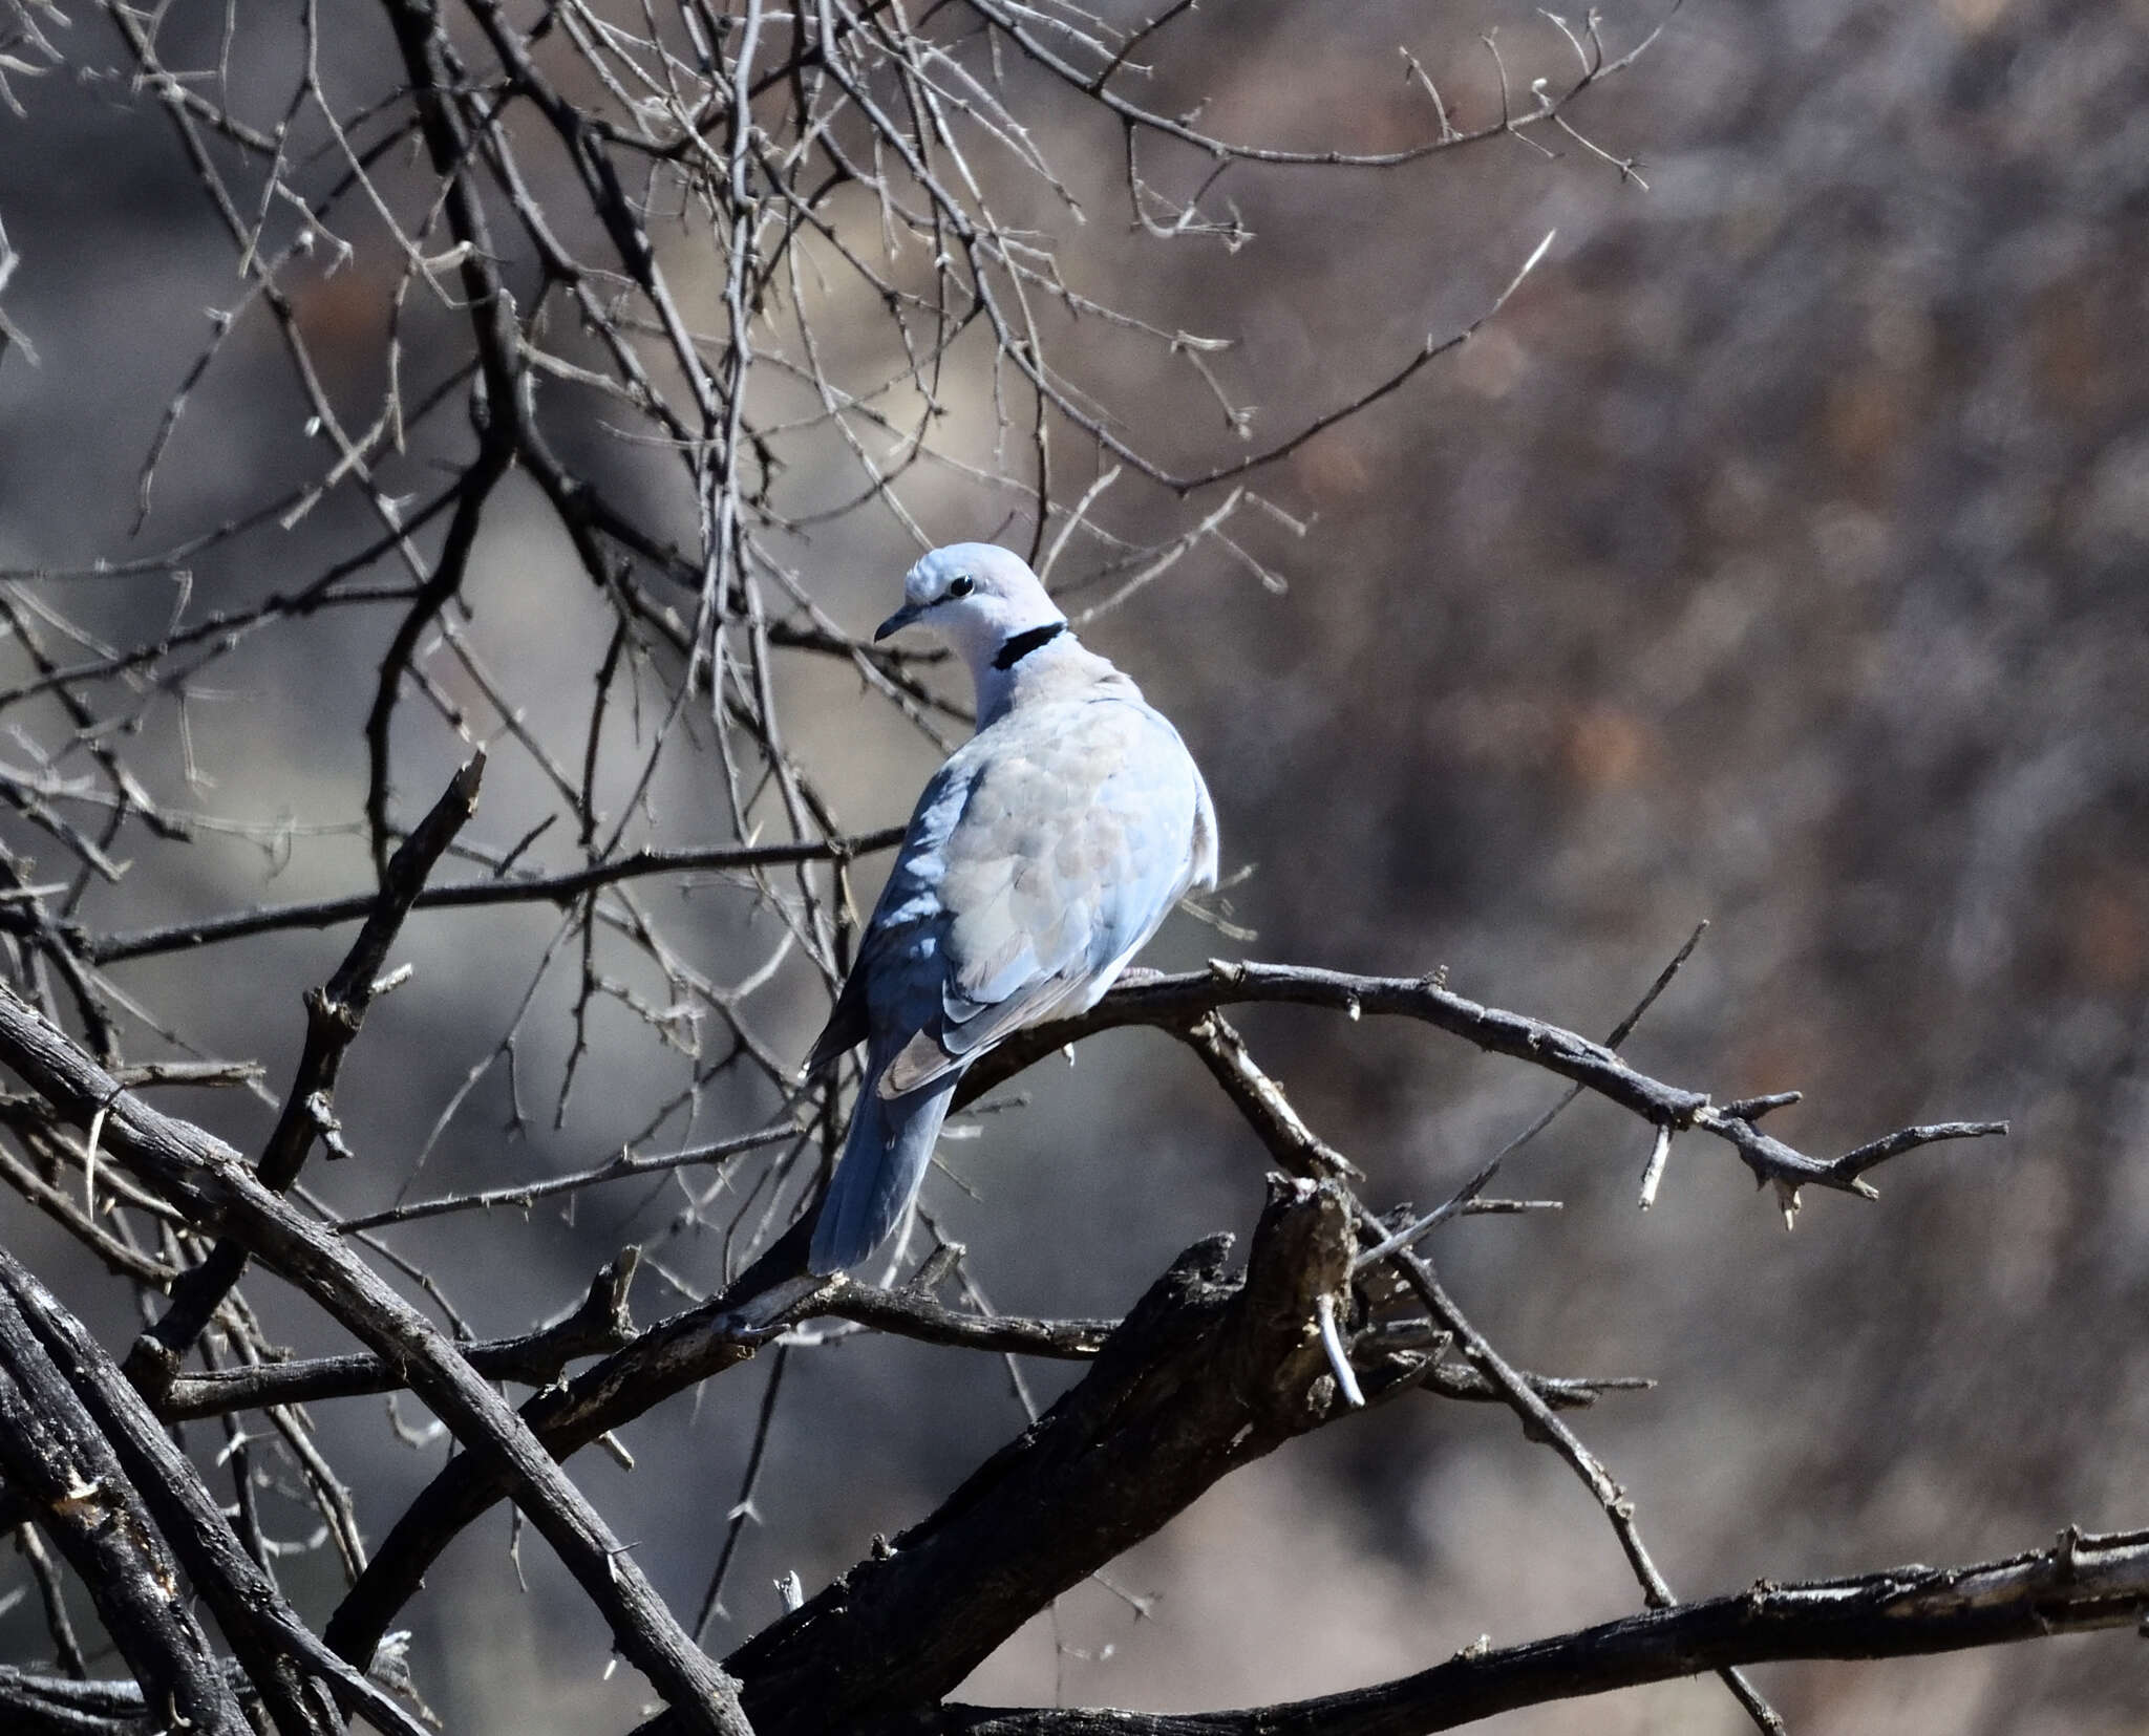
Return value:
[[(11, 82), (0, 223), (19, 254), (0, 312), (0, 569), (62, 614), (64, 660), (153, 640), (292, 589), (374, 535), (331, 494), (290, 529), (170, 574), (37, 578), (127, 559), (271, 501), (324, 468), (273, 322), (234, 324), (187, 400), (133, 535), (138, 475), (211, 329), (241, 294), (234, 249), (159, 103), (92, 6), (67, 56)], [(299, 37), (282, 11), (228, 52), (234, 107), (273, 125)], [(387, 30), (340, 21), (329, 86), (393, 88)], [(1580, 28), (1580, 21), (1575, 21)], [(1255, 516), (1100, 617), (1087, 638), (1182, 728), (1216, 793), (1238, 941), (1178, 920), (1148, 963), (1210, 954), (1420, 973), (1474, 999), (1607, 1031), (1696, 922), (1693, 963), (1629, 1042), (1638, 1066), (1717, 1098), (1799, 1087), (1771, 1128), (1833, 1154), (1904, 1122), (2007, 1117), (2005, 1143), (1936, 1147), (1876, 1175), (1874, 1205), (1818, 1197), (1797, 1233), (1717, 1147), (1681, 1141), (1659, 1205), (1635, 1210), (1646, 1128), (1588, 1102), (1513, 1160), (1502, 1190), (1564, 1212), (1466, 1218), (1436, 1242), (1451, 1289), (1504, 1354), (1547, 1373), (1653, 1375), (1580, 1418), (1638, 1504), (1683, 1594), (1756, 1577), (1966, 1562), (2078, 1523), (2149, 1523), (2149, 4), (2143, 0), (1689, 0), (1612, 6), (1614, 52), (1575, 138), (1496, 138), (1395, 172), (1253, 172), (1221, 183), (1251, 238), (1160, 243), (1126, 219), (1113, 127), (1042, 101), (1055, 165), (1083, 198), (1085, 271), (1158, 327), (1231, 335), (1214, 361), (1277, 438), (1347, 400), (1427, 333), (1476, 318), (1547, 230), (1513, 303), (1405, 391), (1298, 449), (1255, 486), (1307, 526)], [(49, 26), (49, 21), (47, 21)], [(1571, 77), (1573, 49), (1504, 0), (1466, 6), (1238, 4), (1188, 15), (1139, 84), (1176, 114), (1298, 146), (1397, 148), (1431, 129), (1408, 45), (1463, 125), (1498, 114), (1479, 43), (1498, 30), (1517, 92)], [(174, 6), (172, 67), (215, 67), (221, 9)], [(1021, 71), (1016, 79), (1025, 77)], [(539, 157), (563, 176), (557, 161)], [(1199, 170), (1163, 161), (1186, 189)], [(1635, 178), (1638, 176), (1638, 178)], [(1646, 183), (1646, 185), (1642, 185)], [(1176, 183), (1173, 183), (1176, 185)], [(279, 219), (282, 221), (282, 219)], [(357, 254), (294, 269), (294, 318), (363, 421), (385, 370), (395, 260), (363, 215)], [(688, 226), (660, 249), (692, 320), (720, 320), (722, 266)], [(1165, 370), (1079, 348), (1115, 410), (1188, 468), (1240, 447), (1221, 408)], [(460, 335), (413, 312), (404, 365), (436, 378)], [(548, 391), (552, 391), (548, 387)], [(965, 395), (967, 393), (967, 395)], [(956, 393), (993, 453), (989, 382)], [(651, 518), (681, 518), (662, 451), (595, 402), (542, 400), (576, 462)], [(456, 421), (402, 464), (468, 449)], [(1079, 443), (1077, 443), (1079, 445)], [(1016, 453), (1016, 462), (1021, 453)], [(797, 498), (840, 492), (795, 479)], [(939, 541), (1006, 535), (1006, 505), (961, 479), (909, 503)], [(1163, 501), (1126, 505), (1158, 537)], [(857, 632), (890, 608), (913, 544), (860, 516), (797, 554)], [(1079, 548), (1057, 582), (1079, 582)], [(393, 578), (393, 574), (389, 574)], [(1083, 602), (1094, 591), (1077, 591)], [(499, 498), (453, 617), (565, 758), (580, 752), (608, 612), (535, 492)], [(37, 617), (45, 619), (45, 617)], [(329, 610), (262, 632), (144, 700), (127, 741), (187, 842), (129, 836), (129, 872), (82, 920), (138, 928), (262, 898), (363, 892), (359, 737), (393, 617)], [(6, 647), (13, 683), (30, 672)], [(797, 660), (789, 728), (842, 823), (907, 816), (937, 750), (855, 675)], [(926, 679), (965, 698), (948, 672)], [(477, 735), (484, 692), (441, 666)], [(460, 685), (458, 685), (460, 683)], [(183, 694), (183, 698), (181, 698)], [(662, 707), (662, 692), (647, 703)], [(58, 713), (17, 707), (6, 756), (52, 752)], [(398, 724), (398, 795), (421, 810), (466, 752), (419, 700)], [(619, 748), (625, 776), (636, 765)], [(645, 829), (724, 836), (707, 758), (675, 756)], [(527, 754), (499, 750), (473, 838), (511, 847), (542, 816)], [(49, 851), (19, 816), (11, 849)], [(537, 847), (533, 862), (548, 862)], [(864, 907), (879, 866), (855, 887)], [(709, 978), (737, 984), (782, 928), (737, 885), (649, 883)], [(559, 913), (415, 917), (340, 1089), (359, 1160), (309, 1171), (342, 1210), (597, 1162), (690, 1076), (625, 1010), (600, 1010), (559, 1128), (574, 1042), (574, 945)], [(299, 995), (348, 930), (284, 932), (118, 965), (142, 1016), (129, 1055), (260, 1059), (271, 1091), (303, 1033)], [(548, 952), (552, 950), (552, 952)], [(531, 984), (537, 990), (531, 993)], [(825, 995), (784, 963), (756, 1016), (804, 1053)], [(516, 1023), (511, 1081), (499, 1061)], [(1360, 1162), (1369, 1195), (1429, 1203), (1554, 1096), (1547, 1079), (1416, 1027), (1259, 1010), (1255, 1055)], [(716, 1031), (711, 1029), (711, 1040)], [(1087, 1044), (1021, 1081), (1027, 1109), (973, 1117), (926, 1201), (1008, 1311), (1117, 1313), (1191, 1240), (1251, 1225), (1261, 1152), (1158, 1033)], [(511, 1091), (520, 1089), (520, 1098)], [(520, 1102), (527, 1119), (509, 1130)], [(774, 1106), (729, 1079), (703, 1137)], [(174, 1094), (258, 1149), (273, 1106)], [(445, 1117), (445, 1119), (443, 1119)], [(395, 1233), (479, 1334), (567, 1306), (638, 1240), (649, 1321), (722, 1274), (735, 1199), (716, 1177), (589, 1195), (572, 1214), (443, 1218)], [(739, 1184), (746, 1186), (744, 1182)], [(683, 1188), (692, 1190), (692, 1199)], [(122, 1345), (131, 1298), (15, 1199), (0, 1235)], [(666, 1274), (675, 1287), (666, 1287)], [(335, 1334), (258, 1298), (299, 1349)], [(675, 1605), (720, 1547), (767, 1364), (623, 1431), (630, 1474), (576, 1472)], [(1027, 1371), (1049, 1399), (1068, 1375)], [(447, 1446), (410, 1444), (380, 1401), (316, 1407), (378, 1536)], [(1023, 1424), (999, 1362), (872, 1336), (789, 1356), (769, 1465), (711, 1644), (729, 1648), (875, 1532), (926, 1515)], [(204, 1450), (215, 1442), (204, 1440)], [(286, 1506), (303, 1540), (307, 1515)], [(324, 1551), (282, 1564), (307, 1614), (333, 1605)], [(542, 1543), (509, 1560), (505, 1513), (473, 1528), (406, 1611), (413, 1667), (449, 1727), (621, 1727), (632, 1672)], [(0, 1594), (21, 1579), (0, 1562)], [(1330, 1429), (1218, 1487), (1163, 1536), (1001, 1650), (965, 1689), (1160, 1710), (1244, 1706), (1416, 1669), (1479, 1635), (1519, 1641), (1638, 1607), (1586, 1491), (1504, 1412), (1436, 1401)], [(34, 1596), (0, 1654), (45, 1654)], [(1777, 1665), (1760, 1687), (1799, 1732), (2140, 1730), (2149, 1663), (2123, 1635), (1876, 1665)], [(1500, 1732), (1732, 1732), (1713, 1680), (1496, 1719)]]

